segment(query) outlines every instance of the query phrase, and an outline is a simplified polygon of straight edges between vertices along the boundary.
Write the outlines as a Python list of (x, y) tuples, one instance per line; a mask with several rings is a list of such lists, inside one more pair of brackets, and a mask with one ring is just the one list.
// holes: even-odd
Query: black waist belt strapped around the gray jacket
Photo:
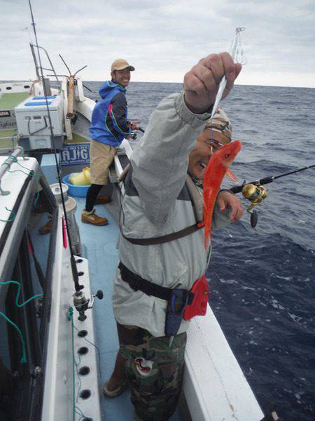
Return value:
[[(166, 301), (168, 301), (171, 298), (173, 292), (172, 288), (165, 288), (165, 286), (160, 286), (156, 283), (141, 278), (141, 276), (134, 274), (134, 272), (125, 267), (125, 265), (123, 265), (122, 262), (119, 262), (118, 267), (120, 269), (121, 278), (123, 279), (123, 281), (129, 283), (130, 287), (133, 290), (141, 290), (146, 295), (153, 295), (153, 297), (161, 298), (162, 300)], [(191, 304), (193, 302), (194, 293), (191, 293), (188, 290), (187, 293), (187, 304)]]

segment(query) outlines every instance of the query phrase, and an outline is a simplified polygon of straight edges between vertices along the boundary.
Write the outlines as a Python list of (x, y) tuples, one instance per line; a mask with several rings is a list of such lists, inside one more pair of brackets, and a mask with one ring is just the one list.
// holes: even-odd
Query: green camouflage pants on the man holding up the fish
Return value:
[(183, 382), (186, 333), (155, 338), (137, 326), (118, 324), (120, 353), (137, 419), (166, 421), (176, 410)]

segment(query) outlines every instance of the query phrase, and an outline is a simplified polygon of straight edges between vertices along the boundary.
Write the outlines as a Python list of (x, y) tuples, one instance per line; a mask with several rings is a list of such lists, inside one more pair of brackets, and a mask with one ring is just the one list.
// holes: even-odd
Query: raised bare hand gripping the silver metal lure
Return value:
[(223, 76), (227, 79), (223, 98), (232, 90), (241, 65), (235, 63), (229, 53), (210, 54), (202, 58), (186, 73), (184, 95), (187, 107), (195, 114), (206, 112), (216, 100), (218, 87)]

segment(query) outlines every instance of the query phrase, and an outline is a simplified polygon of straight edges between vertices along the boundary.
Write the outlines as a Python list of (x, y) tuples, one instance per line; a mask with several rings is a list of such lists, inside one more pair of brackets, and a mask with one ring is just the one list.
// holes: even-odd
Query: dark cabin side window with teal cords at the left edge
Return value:
[(0, 284), (1, 421), (41, 419), (57, 207), (44, 180), (34, 183), (28, 217), (13, 240), (10, 269)]

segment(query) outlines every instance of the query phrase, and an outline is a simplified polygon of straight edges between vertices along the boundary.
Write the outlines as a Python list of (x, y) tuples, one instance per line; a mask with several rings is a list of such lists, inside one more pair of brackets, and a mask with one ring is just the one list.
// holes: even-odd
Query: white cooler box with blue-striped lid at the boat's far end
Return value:
[[(48, 108), (54, 138), (64, 133), (64, 103), (61, 96), (48, 96)], [(50, 128), (45, 97), (27, 98), (15, 107), (18, 133), (29, 139), (29, 149), (51, 149)]]

